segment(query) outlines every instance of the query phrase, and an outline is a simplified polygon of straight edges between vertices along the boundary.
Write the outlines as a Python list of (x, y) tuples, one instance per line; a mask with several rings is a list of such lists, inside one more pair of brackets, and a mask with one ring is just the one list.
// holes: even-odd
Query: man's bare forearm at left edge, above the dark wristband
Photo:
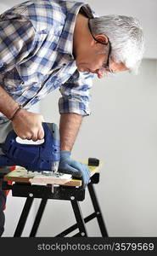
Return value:
[(18, 103), (14, 102), (14, 99), (0, 85), (0, 112), (11, 119), (17, 108), (19, 108)]

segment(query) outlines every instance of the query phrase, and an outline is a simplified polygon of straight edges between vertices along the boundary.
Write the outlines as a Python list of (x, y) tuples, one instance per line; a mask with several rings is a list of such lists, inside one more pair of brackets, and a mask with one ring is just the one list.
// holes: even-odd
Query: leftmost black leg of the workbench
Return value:
[(27, 199), (25, 201), (25, 206), (22, 210), (22, 213), (20, 214), (20, 220), (18, 222), (16, 230), (14, 231), (14, 237), (20, 237), (21, 236), (21, 234), (22, 234), (22, 232), (25, 228), (25, 222), (26, 222), (26, 219), (27, 219), (28, 214), (30, 212), (33, 199), (34, 199), (33, 197), (27, 197)]

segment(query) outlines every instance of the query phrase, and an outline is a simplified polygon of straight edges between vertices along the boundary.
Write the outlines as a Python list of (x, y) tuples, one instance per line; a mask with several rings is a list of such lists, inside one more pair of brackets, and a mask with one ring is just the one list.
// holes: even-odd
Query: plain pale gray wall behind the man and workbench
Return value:
[[(121, 73), (115, 78), (94, 79), (93, 113), (83, 120), (72, 156), (75, 159), (97, 157), (104, 162), (100, 183), (95, 188), (109, 236), (157, 236), (157, 34), (154, 27), (157, 3), (154, 0), (145, 0), (144, 6), (143, 1), (134, 0), (88, 3), (100, 15), (112, 13), (140, 18), (146, 31), (147, 49), (137, 76)], [(55, 91), (34, 110), (40, 111), (47, 121), (59, 124), (59, 96), (59, 91)], [(3, 236), (13, 236), (23, 204), (23, 199), (8, 196)], [(93, 211), (88, 194), (81, 207), (85, 216)], [(32, 208), (24, 236), (28, 235), (35, 212), (36, 207)], [(68, 201), (48, 201), (37, 236), (55, 236), (74, 222)], [(87, 228), (89, 236), (100, 236), (95, 221), (87, 224)]]

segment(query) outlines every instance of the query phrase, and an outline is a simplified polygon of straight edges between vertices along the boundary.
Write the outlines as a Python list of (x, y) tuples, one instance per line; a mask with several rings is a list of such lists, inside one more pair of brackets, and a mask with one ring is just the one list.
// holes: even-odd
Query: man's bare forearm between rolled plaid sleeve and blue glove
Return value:
[(82, 116), (77, 113), (61, 113), (59, 133), (60, 133), (60, 150), (71, 151), (75, 143)]

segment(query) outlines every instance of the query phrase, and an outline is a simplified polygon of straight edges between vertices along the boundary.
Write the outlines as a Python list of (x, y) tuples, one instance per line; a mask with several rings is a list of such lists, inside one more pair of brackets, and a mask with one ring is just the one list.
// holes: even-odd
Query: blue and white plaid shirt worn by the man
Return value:
[(90, 114), (93, 74), (79, 73), (72, 55), (81, 8), (94, 16), (87, 3), (64, 0), (27, 1), (0, 15), (0, 84), (25, 109), (59, 88), (59, 113)]

